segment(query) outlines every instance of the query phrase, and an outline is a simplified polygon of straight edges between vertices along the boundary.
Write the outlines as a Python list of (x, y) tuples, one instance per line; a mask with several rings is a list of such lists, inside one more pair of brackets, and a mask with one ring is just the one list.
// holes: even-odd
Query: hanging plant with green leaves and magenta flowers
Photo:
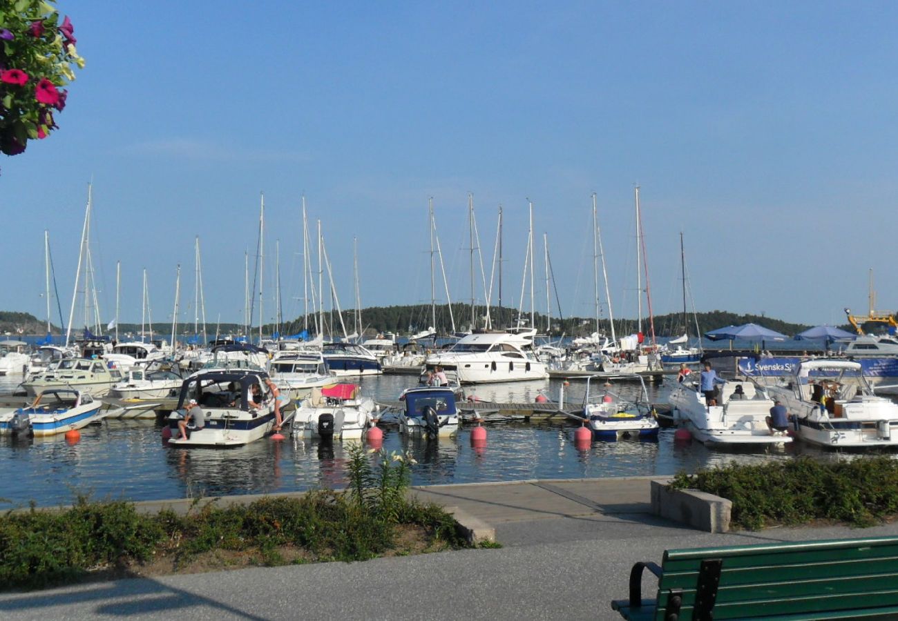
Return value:
[(75, 80), (75, 67), (84, 67), (72, 22), (60, 21), (55, 4), (0, 0), (0, 151), (7, 155), (57, 129), (64, 87)]

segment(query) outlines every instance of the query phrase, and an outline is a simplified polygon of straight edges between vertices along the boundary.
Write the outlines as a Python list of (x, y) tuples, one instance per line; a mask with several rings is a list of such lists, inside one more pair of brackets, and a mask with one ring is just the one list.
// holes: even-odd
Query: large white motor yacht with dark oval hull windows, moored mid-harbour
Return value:
[(462, 384), (542, 380), (549, 372), (533, 354), (535, 334), (535, 329), (521, 334), (474, 332), (448, 351), (429, 356), (427, 370), (441, 366), (445, 372), (455, 372)]

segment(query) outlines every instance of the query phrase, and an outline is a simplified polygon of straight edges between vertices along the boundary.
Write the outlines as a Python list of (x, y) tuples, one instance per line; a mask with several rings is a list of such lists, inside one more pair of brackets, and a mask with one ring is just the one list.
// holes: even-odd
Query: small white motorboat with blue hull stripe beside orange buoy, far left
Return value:
[(41, 390), (29, 407), (0, 415), (0, 435), (40, 438), (81, 429), (103, 417), (102, 407), (102, 401), (82, 390)]

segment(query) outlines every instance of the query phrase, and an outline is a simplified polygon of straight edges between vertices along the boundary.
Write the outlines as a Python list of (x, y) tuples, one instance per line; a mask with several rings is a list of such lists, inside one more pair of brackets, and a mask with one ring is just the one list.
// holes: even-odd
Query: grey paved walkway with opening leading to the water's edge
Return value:
[[(613, 619), (629, 568), (669, 547), (898, 535), (873, 529), (710, 534), (649, 512), (649, 478), (437, 485), (422, 499), (484, 520), (501, 549), (98, 582), (0, 595), (3, 619)], [(655, 584), (649, 576), (644, 590)]]

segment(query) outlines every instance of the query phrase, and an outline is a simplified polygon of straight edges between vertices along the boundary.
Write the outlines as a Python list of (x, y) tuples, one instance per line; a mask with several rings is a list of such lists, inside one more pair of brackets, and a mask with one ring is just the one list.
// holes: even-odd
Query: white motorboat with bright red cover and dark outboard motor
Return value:
[(290, 428), (306, 439), (361, 440), (375, 411), (374, 399), (359, 396), (357, 384), (333, 384), (312, 389)]

